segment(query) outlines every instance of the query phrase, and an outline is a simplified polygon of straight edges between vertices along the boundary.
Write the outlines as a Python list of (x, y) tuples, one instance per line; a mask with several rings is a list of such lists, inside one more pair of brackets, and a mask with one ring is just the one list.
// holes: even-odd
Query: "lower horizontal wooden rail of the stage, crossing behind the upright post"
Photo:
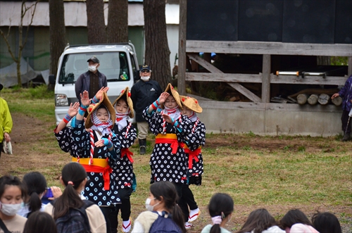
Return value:
[[(274, 75), (270, 74), (270, 83), (284, 84), (322, 84), (322, 85), (344, 85), (347, 77), (327, 76), (306, 76), (304, 78), (294, 75)], [(203, 82), (253, 82), (261, 83), (261, 73), (258, 75), (229, 74), (229, 73), (186, 73), (186, 81)]]

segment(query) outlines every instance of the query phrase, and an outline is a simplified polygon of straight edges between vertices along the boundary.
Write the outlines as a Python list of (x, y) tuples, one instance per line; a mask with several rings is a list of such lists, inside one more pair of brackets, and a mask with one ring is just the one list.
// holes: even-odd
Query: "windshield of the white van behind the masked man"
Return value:
[(125, 52), (72, 53), (63, 57), (58, 83), (75, 83), (78, 77), (88, 71), (89, 58), (99, 59), (99, 72), (106, 76), (108, 82), (130, 80), (127, 54)]

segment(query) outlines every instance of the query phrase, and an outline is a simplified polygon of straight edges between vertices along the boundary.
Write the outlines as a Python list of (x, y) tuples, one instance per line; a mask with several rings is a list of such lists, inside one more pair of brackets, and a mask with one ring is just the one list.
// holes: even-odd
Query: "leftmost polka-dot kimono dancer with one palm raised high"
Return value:
[[(120, 141), (111, 131), (115, 123), (115, 109), (103, 92), (98, 103), (90, 104), (87, 91), (81, 94), (80, 111), (76, 115), (75, 126), (72, 129), (74, 150), (70, 151), (73, 161), (83, 165), (87, 171), (87, 184), (83, 195), (101, 208), (106, 220), (106, 229), (111, 232), (111, 226), (117, 226), (117, 219), (109, 218), (120, 203), (115, 181), (111, 180), (112, 169), (120, 156)], [(83, 117), (88, 111), (84, 125)], [(86, 130), (89, 129), (89, 130)], [(111, 207), (111, 206), (114, 206)]]

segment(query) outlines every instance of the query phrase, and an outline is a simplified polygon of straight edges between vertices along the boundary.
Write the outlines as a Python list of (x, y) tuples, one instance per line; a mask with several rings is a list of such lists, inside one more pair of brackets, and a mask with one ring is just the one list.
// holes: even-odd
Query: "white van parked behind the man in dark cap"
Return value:
[(111, 103), (122, 89), (131, 89), (134, 81), (139, 79), (138, 61), (134, 51), (132, 43), (66, 46), (58, 61), (56, 77), (49, 76), (50, 84), (55, 84), (56, 124), (65, 117), (70, 103), (78, 101), (75, 82), (82, 73), (88, 71), (87, 60), (92, 56), (99, 59), (99, 72), (106, 75)]

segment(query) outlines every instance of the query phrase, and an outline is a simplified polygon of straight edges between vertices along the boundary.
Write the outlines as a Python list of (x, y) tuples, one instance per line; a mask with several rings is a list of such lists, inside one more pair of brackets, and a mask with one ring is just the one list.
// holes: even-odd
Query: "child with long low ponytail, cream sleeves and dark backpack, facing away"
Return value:
[[(55, 201), (48, 203), (44, 211), (57, 221), (59, 218), (65, 218), (70, 210), (83, 207), (89, 220), (90, 232), (106, 232), (106, 222), (99, 206), (91, 201), (82, 200), (81, 192), (87, 183), (87, 172), (82, 165), (79, 163), (66, 164), (61, 172), (60, 181), (65, 186), (63, 194)], [(84, 218), (83, 215), (82, 218)], [(61, 230), (58, 226), (58, 232)]]

